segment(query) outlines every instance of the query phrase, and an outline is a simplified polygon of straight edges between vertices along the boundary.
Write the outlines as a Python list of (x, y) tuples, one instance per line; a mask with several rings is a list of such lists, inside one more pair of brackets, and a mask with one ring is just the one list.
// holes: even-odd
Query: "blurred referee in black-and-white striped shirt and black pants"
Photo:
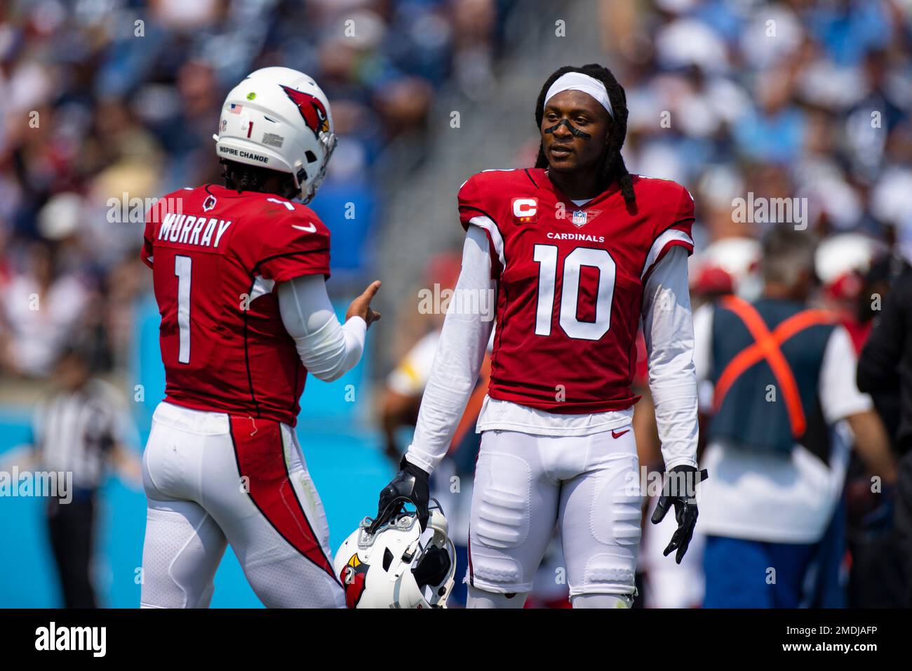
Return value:
[(135, 425), (122, 398), (92, 377), (88, 352), (72, 346), (57, 362), (55, 389), (36, 407), (29, 461), (72, 474), (72, 496), (47, 500), (47, 529), (67, 608), (95, 608), (91, 559), (98, 488), (109, 467), (139, 488)]

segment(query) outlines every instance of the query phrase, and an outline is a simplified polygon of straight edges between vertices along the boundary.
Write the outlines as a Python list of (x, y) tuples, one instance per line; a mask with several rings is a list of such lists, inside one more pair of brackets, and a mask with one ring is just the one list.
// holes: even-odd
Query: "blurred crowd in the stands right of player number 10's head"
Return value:
[[(732, 215), (749, 192), (806, 198), (806, 223), (824, 236), (886, 241), (912, 224), (909, 11), (888, 1), (659, 0), (627, 25), (612, 20), (627, 163), (689, 186), (704, 249), (762, 232), (764, 222)], [(656, 123), (666, 110), (667, 127)]]

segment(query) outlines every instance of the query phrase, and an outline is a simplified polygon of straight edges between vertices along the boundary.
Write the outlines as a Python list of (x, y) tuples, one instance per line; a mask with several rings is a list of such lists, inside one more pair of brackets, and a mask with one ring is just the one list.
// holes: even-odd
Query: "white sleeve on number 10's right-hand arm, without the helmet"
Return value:
[(643, 335), (649, 391), (656, 406), (665, 467), (697, 466), (697, 376), (693, 363), (693, 317), (687, 251), (674, 246), (643, 288)]

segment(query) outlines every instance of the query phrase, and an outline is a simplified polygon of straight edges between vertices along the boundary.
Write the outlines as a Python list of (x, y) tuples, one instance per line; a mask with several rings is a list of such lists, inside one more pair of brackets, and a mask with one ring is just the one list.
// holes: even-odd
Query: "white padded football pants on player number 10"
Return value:
[(630, 429), (582, 436), (485, 431), (472, 492), (470, 585), (519, 592), (514, 599), (524, 601), (559, 524), (566, 566), (554, 580), (568, 584), (571, 599), (634, 594), (641, 498)]

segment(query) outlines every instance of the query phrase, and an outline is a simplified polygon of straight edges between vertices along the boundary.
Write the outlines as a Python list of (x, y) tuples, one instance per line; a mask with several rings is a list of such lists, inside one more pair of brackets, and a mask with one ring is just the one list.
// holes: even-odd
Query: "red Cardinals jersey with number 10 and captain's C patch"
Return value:
[(540, 168), (462, 184), (462, 226), (487, 231), (498, 280), (492, 398), (565, 414), (637, 402), (643, 285), (672, 246), (693, 252), (693, 198), (668, 180), (633, 187), (631, 214), (617, 184), (580, 207)]

